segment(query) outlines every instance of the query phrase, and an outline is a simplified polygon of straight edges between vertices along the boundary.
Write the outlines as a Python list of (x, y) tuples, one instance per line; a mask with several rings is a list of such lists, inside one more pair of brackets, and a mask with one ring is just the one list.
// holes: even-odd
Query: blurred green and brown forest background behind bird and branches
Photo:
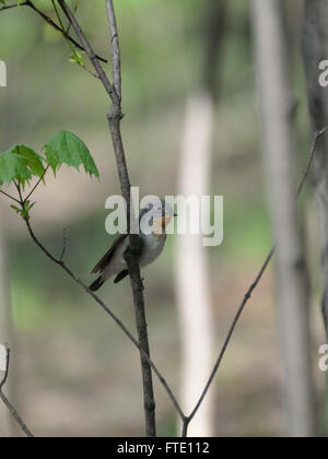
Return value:
[[(47, 2), (35, 3), (47, 10)], [(116, 2), (127, 114), (124, 139), (132, 185), (140, 186), (141, 195), (177, 192), (186, 102), (204, 81), (214, 95), (210, 192), (224, 196), (224, 242), (207, 248), (214, 350), (222, 345), (272, 243), (259, 146), (249, 2), (220, 3), (221, 36), (213, 54), (210, 1)], [(311, 140), (300, 50), (303, 11), (300, 0), (284, 4), (301, 175)], [(97, 52), (109, 57), (104, 9), (103, 1), (80, 1), (78, 17)], [(55, 20), (50, 10), (47, 13)], [(0, 44), (0, 58), (8, 66), (8, 87), (0, 89), (1, 151), (14, 143), (40, 151), (55, 132), (67, 129), (85, 141), (99, 168), (99, 183), (73, 169), (62, 169), (56, 181), (49, 175), (47, 186), (35, 196), (33, 210), (36, 233), (55, 252), (60, 254), (62, 228), (67, 228), (67, 262), (91, 281), (91, 269), (110, 244), (104, 226), (105, 200), (119, 192), (104, 91), (95, 79), (69, 62), (70, 50), (60, 34), (30, 9), (1, 13)], [(7, 340), (12, 348), (11, 392), (24, 420), (38, 436), (142, 435), (136, 349), (90, 297), (38, 251), (9, 203), (1, 199), (0, 207), (2, 256), (5, 249), (2, 263), (10, 286), (1, 308), (3, 314), (4, 304), (10, 303), (12, 332)], [(325, 342), (325, 332), (311, 186), (301, 207), (312, 275), (314, 375), (323, 407), (325, 377), (317, 367), (317, 350)], [(145, 271), (145, 302), (153, 361), (179, 393), (181, 333), (173, 268), (176, 244), (177, 237), (169, 236), (163, 256)], [(272, 280), (269, 270), (242, 317), (211, 389), (215, 436), (285, 434)], [(128, 280), (124, 282), (106, 284), (101, 296), (134, 330), (131, 292)], [(155, 395), (159, 433), (175, 435), (177, 416), (156, 379)]]

